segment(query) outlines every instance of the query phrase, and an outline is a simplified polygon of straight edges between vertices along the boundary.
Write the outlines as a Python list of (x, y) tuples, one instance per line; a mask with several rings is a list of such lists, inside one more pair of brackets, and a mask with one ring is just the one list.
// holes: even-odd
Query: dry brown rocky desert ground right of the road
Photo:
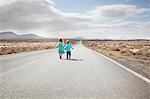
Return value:
[(83, 44), (150, 79), (150, 41), (84, 41)]

